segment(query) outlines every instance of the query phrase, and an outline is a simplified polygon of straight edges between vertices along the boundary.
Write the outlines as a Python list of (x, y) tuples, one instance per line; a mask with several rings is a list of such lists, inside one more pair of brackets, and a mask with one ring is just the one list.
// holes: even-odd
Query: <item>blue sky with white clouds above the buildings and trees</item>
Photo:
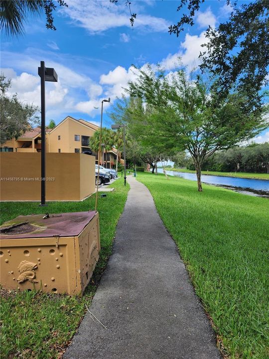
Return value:
[[(132, 64), (161, 63), (172, 71), (181, 56), (186, 66), (197, 65), (205, 29), (225, 21), (230, 13), (226, 1), (206, 0), (195, 25), (176, 37), (168, 33), (168, 26), (181, 16), (176, 11), (179, 1), (132, 1), (132, 12), (137, 13), (133, 28), (125, 1), (66, 2), (68, 8), (58, 6), (54, 13), (56, 31), (46, 29), (42, 15), (29, 19), (24, 36), (1, 39), (1, 71), (12, 79), (10, 93), (17, 92), (22, 101), (40, 106), (40, 60), (58, 73), (58, 83), (46, 83), (47, 123), (70, 115), (99, 124), (102, 99), (115, 101), (124, 93), (123, 87), (134, 79)], [(104, 122), (111, 124), (106, 113)], [(269, 131), (257, 141), (269, 141)]]

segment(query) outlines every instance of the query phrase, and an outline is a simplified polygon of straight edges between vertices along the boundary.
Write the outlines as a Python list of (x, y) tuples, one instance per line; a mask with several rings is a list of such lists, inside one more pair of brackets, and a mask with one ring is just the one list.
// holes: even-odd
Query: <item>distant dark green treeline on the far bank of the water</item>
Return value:
[[(188, 170), (195, 170), (192, 161)], [(203, 171), (269, 173), (269, 142), (216, 152), (202, 165)]]

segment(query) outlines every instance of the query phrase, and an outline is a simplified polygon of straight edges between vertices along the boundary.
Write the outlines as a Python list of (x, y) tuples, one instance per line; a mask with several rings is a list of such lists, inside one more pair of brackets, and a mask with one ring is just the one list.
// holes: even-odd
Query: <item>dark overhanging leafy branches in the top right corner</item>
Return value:
[[(194, 24), (194, 15), (204, 0), (181, 0), (180, 11), (187, 3), (189, 14), (184, 14), (177, 24), (169, 27), (169, 32), (177, 36), (184, 25)], [(208, 42), (201, 69), (209, 69), (218, 76), (218, 96), (225, 97), (231, 89), (245, 93), (250, 106), (263, 106), (260, 93), (268, 84), (269, 66), (269, 1), (248, 1), (238, 6), (237, 1), (227, 0), (232, 7), (230, 18), (218, 27), (208, 27)]]

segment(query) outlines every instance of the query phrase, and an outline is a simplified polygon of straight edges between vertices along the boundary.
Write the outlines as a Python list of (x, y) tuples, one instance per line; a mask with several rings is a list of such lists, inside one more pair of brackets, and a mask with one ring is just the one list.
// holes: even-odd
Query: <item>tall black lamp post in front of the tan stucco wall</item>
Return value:
[(45, 81), (58, 81), (54, 68), (45, 67), (45, 62), (40, 61), (38, 75), (41, 81), (41, 203), (46, 205), (46, 113), (45, 113)]

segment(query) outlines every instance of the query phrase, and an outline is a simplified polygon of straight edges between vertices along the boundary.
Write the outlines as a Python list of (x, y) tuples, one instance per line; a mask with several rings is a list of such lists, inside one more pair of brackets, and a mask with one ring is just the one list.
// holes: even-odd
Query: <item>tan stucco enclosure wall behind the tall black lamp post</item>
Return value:
[[(40, 199), (40, 153), (0, 153), (0, 199)], [(46, 154), (46, 200), (81, 200), (95, 190), (94, 157)]]

